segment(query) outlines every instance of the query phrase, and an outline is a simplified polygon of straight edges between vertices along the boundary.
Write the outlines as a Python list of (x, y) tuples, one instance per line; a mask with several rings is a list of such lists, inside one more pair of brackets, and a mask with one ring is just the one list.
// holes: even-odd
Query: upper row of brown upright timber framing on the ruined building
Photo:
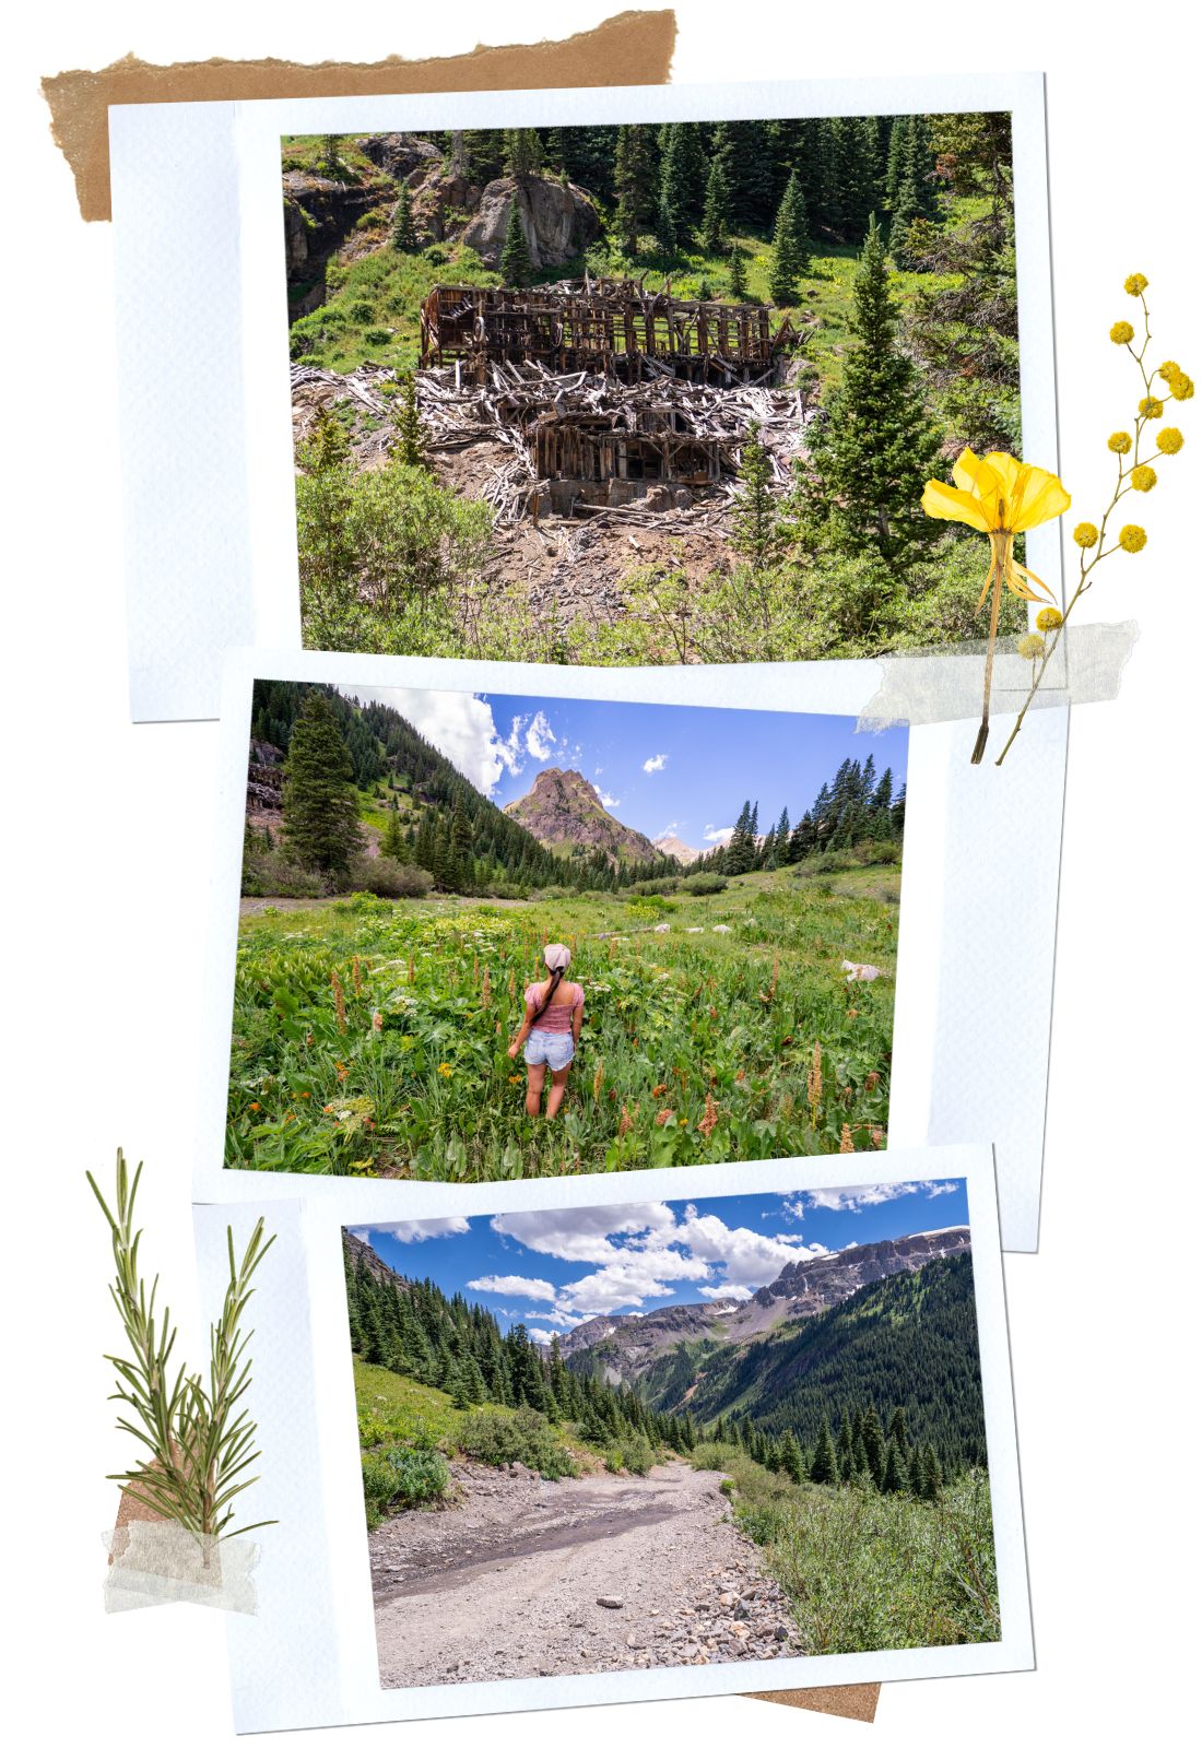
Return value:
[[(776, 327), (774, 327), (776, 318)], [(762, 304), (673, 297), (641, 280), (559, 285), (435, 285), (421, 304), (421, 365), (458, 364), (487, 381), (491, 364), (542, 364), (641, 381), (765, 381), (797, 341), (788, 316)]]

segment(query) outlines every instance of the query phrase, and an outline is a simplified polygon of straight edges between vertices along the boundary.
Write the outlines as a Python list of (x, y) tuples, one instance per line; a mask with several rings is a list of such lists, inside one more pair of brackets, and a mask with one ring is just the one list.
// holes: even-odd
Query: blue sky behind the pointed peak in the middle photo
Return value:
[(617, 704), (521, 697), (508, 692), (433, 692), (346, 687), (391, 704), (498, 806), (526, 795), (540, 771), (582, 771), (601, 802), (648, 837), (673, 832), (697, 850), (722, 841), (744, 801), (760, 827), (781, 808), (797, 820), (839, 764), (875, 759), (905, 781), (907, 731), (856, 734), (853, 717), (687, 704)]

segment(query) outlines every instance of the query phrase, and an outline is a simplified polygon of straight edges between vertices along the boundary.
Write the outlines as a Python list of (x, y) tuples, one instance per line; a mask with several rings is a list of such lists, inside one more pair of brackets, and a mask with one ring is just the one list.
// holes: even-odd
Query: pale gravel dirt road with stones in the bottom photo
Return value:
[(797, 1654), (722, 1475), (543, 1481), (456, 1465), (463, 1503), (404, 1512), (370, 1536), (384, 1687)]

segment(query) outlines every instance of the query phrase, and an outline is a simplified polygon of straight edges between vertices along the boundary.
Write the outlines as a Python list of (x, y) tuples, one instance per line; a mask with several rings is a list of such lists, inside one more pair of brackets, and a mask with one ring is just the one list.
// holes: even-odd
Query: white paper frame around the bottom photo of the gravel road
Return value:
[[(423, 1206), (423, 1215), (470, 1217), (519, 1208), (596, 1208), (725, 1194), (793, 1194), (915, 1178), (961, 1178), (968, 1187), (1001, 1636), (985, 1645), (423, 1689), (379, 1685), (341, 1252), (342, 1227), (363, 1224), (356, 1199), (250, 1199), (197, 1208), (196, 1238), (201, 1290), (206, 1295), (220, 1295), (224, 1287), (229, 1267), (227, 1227), (232, 1227), (238, 1246), (262, 1213), (269, 1231), (278, 1234), (255, 1297), (252, 1402), (262, 1449), (262, 1479), (255, 1486), (253, 1514), (274, 1517), (278, 1524), (259, 1531), (262, 1557), (255, 1571), (257, 1613), (229, 1617), (236, 1731), (466, 1717), (1033, 1668), (998, 1204), (987, 1147), (891, 1148), (888, 1154), (690, 1166), (683, 1171), (442, 1185)], [(339, 1187), (355, 1189), (344, 1178)], [(391, 1210), (381, 1206), (377, 1222), (412, 1217), (412, 1203), (400, 1187), (390, 1185), (390, 1190)]]

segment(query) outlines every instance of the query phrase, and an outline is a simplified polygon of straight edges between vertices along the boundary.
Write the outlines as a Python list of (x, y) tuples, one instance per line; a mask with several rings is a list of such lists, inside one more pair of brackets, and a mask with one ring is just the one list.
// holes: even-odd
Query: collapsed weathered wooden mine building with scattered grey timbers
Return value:
[(750, 402), (770, 414), (763, 390), (797, 337), (760, 304), (690, 301), (638, 280), (435, 285), (421, 308), (433, 390), (423, 413), (432, 399), (484, 400), (521, 432), (538, 482), (529, 514), (634, 498), (680, 507), (734, 472)]

